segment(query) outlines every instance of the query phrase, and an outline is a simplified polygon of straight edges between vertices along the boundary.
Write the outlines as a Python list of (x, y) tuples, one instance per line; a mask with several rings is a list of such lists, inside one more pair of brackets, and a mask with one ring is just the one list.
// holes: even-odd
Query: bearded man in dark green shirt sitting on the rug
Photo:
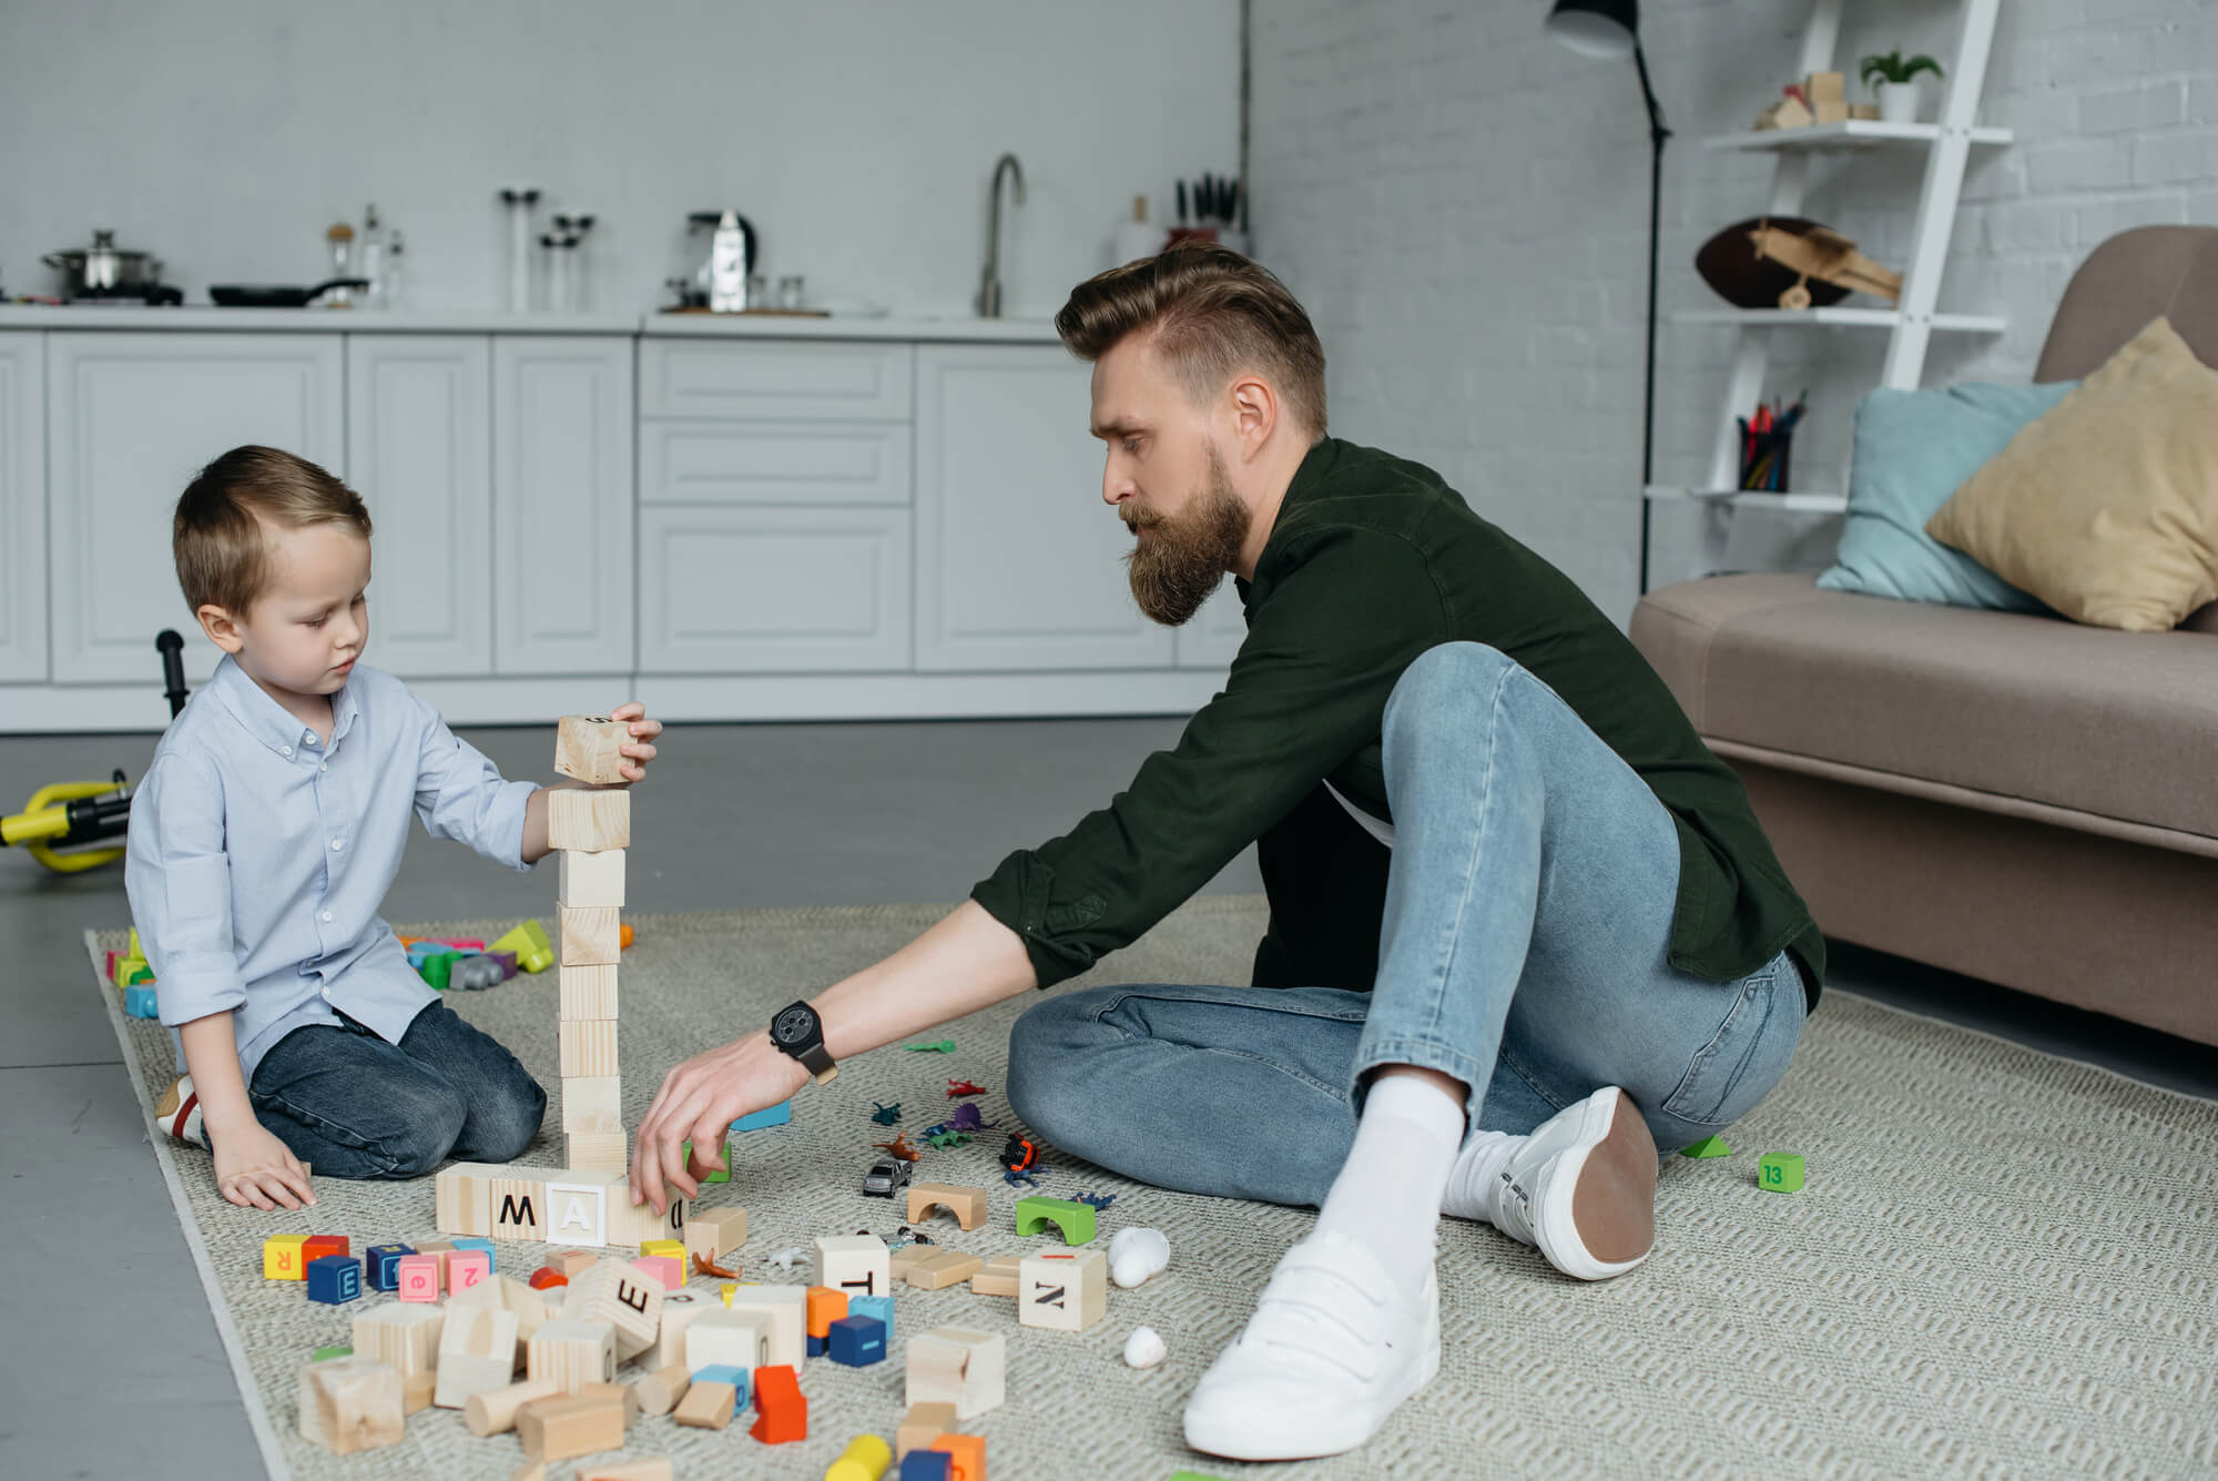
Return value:
[(1085, 971), (1258, 842), (1255, 984), (1045, 1000), (1009, 1104), (1129, 1177), (1320, 1208), (1184, 1428), (1235, 1459), (1349, 1450), (1439, 1366), (1439, 1215), (1579, 1279), (1635, 1268), (1657, 1146), (1777, 1084), (1823, 940), (1624, 634), (1431, 470), (1324, 435), (1324, 353), (1275, 277), (1178, 248), (1080, 284), (1056, 328), (1093, 361), (1142, 610), (1182, 623), (1240, 579), (1231, 678), (1109, 807), (674, 1069), (634, 1197), (692, 1193), (681, 1137)]

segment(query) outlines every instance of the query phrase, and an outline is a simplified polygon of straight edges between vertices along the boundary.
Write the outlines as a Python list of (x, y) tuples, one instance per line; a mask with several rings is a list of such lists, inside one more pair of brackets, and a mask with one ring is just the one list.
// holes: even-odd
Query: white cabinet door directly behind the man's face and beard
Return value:
[(1091, 370), (1060, 346), (916, 350), (916, 667), (1169, 667), (1102, 503)]

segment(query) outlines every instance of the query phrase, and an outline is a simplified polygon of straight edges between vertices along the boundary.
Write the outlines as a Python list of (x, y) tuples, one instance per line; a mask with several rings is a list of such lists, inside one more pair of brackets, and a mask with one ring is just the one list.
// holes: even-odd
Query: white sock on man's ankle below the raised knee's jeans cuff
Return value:
[(1433, 1268), (1442, 1193), (1462, 1140), (1462, 1100), (1417, 1075), (1380, 1075), (1317, 1211), (1317, 1233), (1346, 1235), (1397, 1281), (1420, 1286)]

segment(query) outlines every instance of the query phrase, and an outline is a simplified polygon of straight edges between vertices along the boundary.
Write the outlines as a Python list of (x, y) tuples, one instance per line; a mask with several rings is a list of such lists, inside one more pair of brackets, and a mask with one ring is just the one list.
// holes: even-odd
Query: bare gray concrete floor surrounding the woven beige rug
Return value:
[[(639, 909), (954, 900), (1014, 847), (1060, 834), (1125, 785), (1178, 721), (690, 725), (634, 800)], [(508, 776), (543, 776), (550, 736), (468, 732)], [(0, 738), (0, 809), (40, 785), (144, 772), (155, 736)], [(652, 847), (648, 845), (652, 840)], [(510, 874), (421, 834), (390, 920), (528, 916), (543, 874)], [(1253, 854), (1211, 891), (1260, 889)], [(171, 1215), (115, 1035), (84, 991), (82, 933), (129, 918), (122, 867), (53, 876), (0, 854), (0, 1248), (16, 1281), (0, 1344), (0, 1474), (262, 1477), (231, 1366)], [(1963, 1022), (2218, 1100), (2218, 1055), (2007, 989), (1837, 947), (1830, 991)], [(84, 1244), (98, 1230), (98, 1250)], [(51, 1259), (51, 1264), (49, 1264)], [(91, 1266), (87, 1266), (91, 1259)], [(126, 1397), (118, 1408), (118, 1397)], [(129, 1423), (115, 1423), (129, 1414)], [(277, 1417), (282, 1423), (282, 1417)]]

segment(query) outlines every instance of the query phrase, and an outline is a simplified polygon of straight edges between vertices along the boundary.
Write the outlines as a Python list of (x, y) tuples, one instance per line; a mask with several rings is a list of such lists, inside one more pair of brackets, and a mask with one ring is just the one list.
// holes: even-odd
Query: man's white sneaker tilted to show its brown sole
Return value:
[(1657, 1239), (1657, 1144), (1615, 1084), (1526, 1137), (1486, 1191), (1486, 1222), (1581, 1281), (1624, 1275)]

